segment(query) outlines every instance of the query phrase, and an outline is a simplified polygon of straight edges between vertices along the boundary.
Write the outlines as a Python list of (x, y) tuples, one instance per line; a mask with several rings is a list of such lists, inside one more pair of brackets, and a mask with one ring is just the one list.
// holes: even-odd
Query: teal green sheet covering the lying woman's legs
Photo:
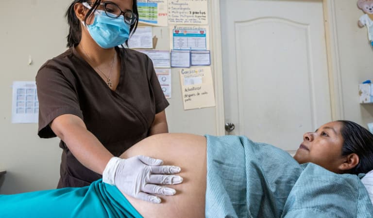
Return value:
[(115, 186), (93, 182), (61, 188), (0, 195), (1, 218), (142, 218)]

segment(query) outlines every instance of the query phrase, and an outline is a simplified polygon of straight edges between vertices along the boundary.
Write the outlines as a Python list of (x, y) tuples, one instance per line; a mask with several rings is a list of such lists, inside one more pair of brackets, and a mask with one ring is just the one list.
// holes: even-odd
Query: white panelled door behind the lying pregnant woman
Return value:
[(293, 153), (331, 121), (322, 0), (220, 0), (230, 134)]

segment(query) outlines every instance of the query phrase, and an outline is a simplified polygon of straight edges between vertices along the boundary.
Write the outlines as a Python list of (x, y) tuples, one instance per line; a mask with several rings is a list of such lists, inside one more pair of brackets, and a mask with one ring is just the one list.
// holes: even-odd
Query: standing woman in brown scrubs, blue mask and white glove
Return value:
[(123, 193), (159, 203), (159, 186), (178, 184), (176, 166), (148, 156), (118, 156), (136, 142), (168, 132), (169, 105), (153, 63), (119, 47), (136, 30), (136, 0), (74, 0), (66, 13), (68, 50), (36, 76), (41, 138), (59, 137), (58, 187), (83, 187), (102, 177)]

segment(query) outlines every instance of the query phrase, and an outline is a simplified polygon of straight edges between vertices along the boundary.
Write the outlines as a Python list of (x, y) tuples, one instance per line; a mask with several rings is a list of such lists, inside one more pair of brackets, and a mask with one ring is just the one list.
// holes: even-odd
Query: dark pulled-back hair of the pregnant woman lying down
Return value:
[(355, 153), (359, 156), (359, 163), (350, 173), (367, 173), (373, 170), (373, 134), (366, 128), (352, 121), (339, 120), (343, 127), (342, 156)]

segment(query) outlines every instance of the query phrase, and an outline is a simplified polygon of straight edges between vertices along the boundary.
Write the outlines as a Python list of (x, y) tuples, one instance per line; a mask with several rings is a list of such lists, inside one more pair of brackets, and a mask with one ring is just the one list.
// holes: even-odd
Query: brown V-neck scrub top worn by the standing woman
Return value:
[[(145, 54), (116, 47), (121, 66), (112, 91), (74, 47), (47, 61), (36, 75), (40, 138), (56, 135), (50, 124), (63, 114), (80, 117), (114, 156), (148, 136), (154, 116), (169, 105)], [(61, 140), (58, 187), (84, 187), (102, 176), (83, 166)]]

